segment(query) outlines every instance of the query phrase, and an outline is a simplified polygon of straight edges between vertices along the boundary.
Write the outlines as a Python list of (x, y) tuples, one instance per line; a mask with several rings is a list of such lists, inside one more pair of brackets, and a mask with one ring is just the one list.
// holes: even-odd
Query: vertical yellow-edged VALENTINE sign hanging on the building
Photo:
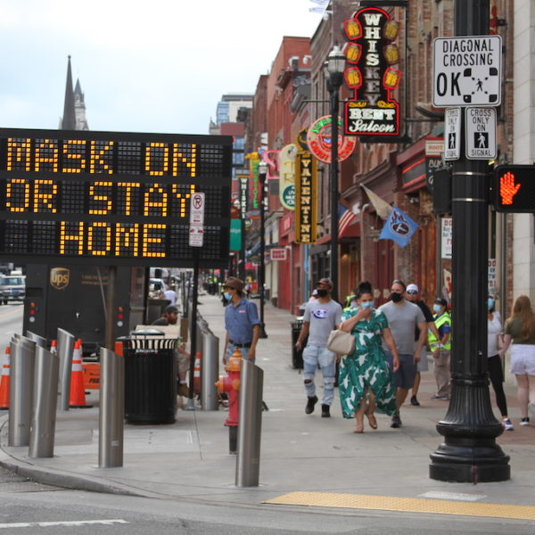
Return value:
[(295, 160), (295, 243), (316, 242), (316, 160), (308, 151)]

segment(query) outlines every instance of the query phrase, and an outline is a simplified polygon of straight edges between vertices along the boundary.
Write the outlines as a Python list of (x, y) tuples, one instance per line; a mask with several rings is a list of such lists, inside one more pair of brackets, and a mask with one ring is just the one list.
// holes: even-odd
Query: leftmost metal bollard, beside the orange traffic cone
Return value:
[(28, 446), (36, 342), (11, 342), (8, 446)]

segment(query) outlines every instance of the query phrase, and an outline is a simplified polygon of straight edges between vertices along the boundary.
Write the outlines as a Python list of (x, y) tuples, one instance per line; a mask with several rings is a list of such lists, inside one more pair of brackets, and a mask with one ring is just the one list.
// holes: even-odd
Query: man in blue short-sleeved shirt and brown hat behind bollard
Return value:
[(254, 360), (256, 344), (259, 340), (260, 319), (256, 305), (243, 297), (243, 281), (229, 276), (223, 285), (226, 300), (225, 308), (225, 349), (223, 364), (232, 356), (235, 349), (240, 350), (243, 358)]

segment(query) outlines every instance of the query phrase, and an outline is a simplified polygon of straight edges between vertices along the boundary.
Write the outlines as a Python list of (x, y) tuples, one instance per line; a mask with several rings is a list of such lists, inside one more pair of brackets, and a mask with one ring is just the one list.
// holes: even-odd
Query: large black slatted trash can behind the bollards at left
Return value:
[(177, 412), (177, 340), (133, 337), (123, 339), (123, 344), (127, 423), (173, 424)]

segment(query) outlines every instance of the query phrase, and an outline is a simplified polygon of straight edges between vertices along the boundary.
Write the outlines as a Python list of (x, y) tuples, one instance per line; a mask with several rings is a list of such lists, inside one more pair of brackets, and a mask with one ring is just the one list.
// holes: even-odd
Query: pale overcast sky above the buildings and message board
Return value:
[(92, 130), (207, 134), (221, 95), (254, 93), (314, 0), (0, 0), (0, 127), (58, 128), (67, 56)]

